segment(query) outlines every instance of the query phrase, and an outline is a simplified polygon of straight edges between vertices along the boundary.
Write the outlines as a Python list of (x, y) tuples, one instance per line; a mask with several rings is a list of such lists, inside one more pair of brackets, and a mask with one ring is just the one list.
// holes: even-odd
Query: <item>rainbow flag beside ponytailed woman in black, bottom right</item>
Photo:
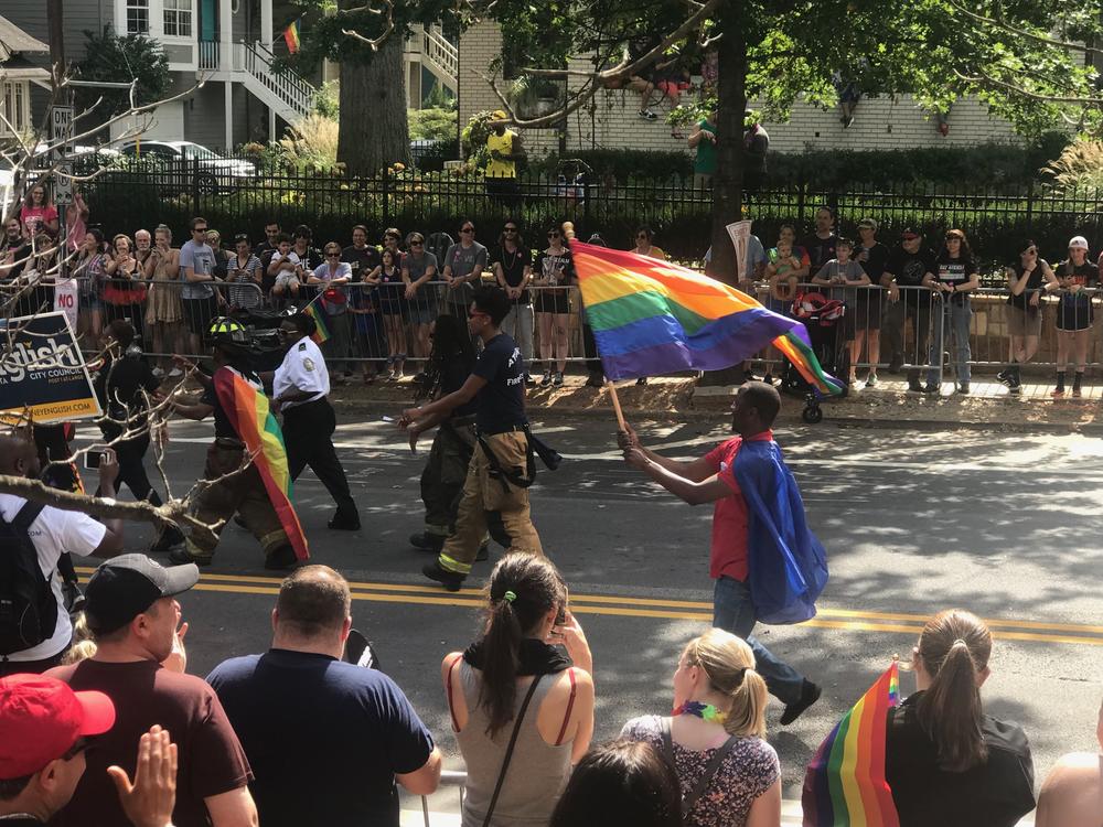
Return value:
[(893, 660), (820, 744), (804, 775), (804, 827), (899, 827), (885, 781), (888, 710), (899, 695)]

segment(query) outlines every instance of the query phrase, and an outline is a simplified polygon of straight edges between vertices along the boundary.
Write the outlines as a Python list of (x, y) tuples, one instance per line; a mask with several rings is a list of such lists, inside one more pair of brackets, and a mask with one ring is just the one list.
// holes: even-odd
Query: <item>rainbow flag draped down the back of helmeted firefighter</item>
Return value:
[(299, 515), (291, 505), (291, 473), (287, 466), (283, 432), (268, 407), (268, 397), (232, 367), (215, 370), (214, 389), (238, 438), (253, 454), (276, 516), (300, 560), (310, 558)]

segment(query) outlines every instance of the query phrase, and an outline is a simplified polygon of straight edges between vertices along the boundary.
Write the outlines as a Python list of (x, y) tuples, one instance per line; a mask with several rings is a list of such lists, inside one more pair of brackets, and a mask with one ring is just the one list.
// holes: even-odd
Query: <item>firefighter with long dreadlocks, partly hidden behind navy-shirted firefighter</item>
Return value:
[[(437, 316), (430, 335), (432, 351), (425, 376), (418, 384), (416, 401), (439, 399), (459, 390), (475, 364), (471, 335), (462, 320), (453, 315)], [(456, 530), (456, 514), (476, 440), (474, 400), (411, 423), (408, 429), (410, 449), (415, 450), (418, 438), (435, 426), (439, 427), (429, 449), (429, 461), (421, 472), (425, 530), (410, 536), (410, 545), (436, 555)], [(475, 559), (485, 560), (486, 554), (486, 540), (483, 540)]]

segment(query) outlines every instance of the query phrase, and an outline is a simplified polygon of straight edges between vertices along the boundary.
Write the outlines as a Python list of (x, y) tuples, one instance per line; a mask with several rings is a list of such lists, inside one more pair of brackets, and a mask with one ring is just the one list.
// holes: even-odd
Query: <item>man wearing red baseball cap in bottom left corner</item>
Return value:
[(84, 775), (86, 739), (114, 723), (103, 692), (74, 692), (43, 675), (0, 679), (0, 823), (50, 820)]

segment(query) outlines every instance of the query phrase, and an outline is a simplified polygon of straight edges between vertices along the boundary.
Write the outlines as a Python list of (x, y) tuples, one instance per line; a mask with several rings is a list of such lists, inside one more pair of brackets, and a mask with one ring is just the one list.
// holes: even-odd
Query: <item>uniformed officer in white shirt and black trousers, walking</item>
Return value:
[(336, 416), (326, 398), (330, 374), (321, 350), (310, 339), (314, 330), (314, 320), (306, 313), (296, 313), (280, 322), (280, 336), (288, 351), (272, 374), (272, 401), (283, 414), (283, 442), (291, 479), (310, 465), (338, 504), (329, 527), (355, 531), (360, 528), (360, 513), (333, 448)]

